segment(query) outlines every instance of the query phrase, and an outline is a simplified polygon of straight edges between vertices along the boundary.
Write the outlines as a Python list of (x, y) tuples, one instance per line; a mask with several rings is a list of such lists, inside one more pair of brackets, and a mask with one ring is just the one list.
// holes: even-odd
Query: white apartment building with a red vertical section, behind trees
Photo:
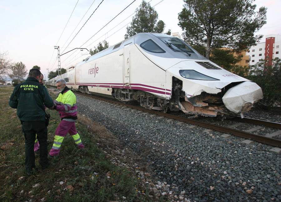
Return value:
[[(279, 48), (280, 47), (280, 48)], [(269, 57), (274, 59), (281, 58), (281, 35), (270, 34), (265, 36), (265, 42), (258, 43), (252, 46), (246, 56), (249, 56), (249, 65), (255, 65), (261, 59)]]

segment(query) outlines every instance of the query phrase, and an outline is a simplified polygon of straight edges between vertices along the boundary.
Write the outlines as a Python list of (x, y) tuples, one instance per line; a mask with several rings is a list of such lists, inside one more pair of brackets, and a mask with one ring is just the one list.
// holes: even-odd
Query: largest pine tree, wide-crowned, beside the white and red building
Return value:
[(244, 50), (262, 38), (254, 36), (266, 23), (266, 8), (255, 12), (253, 0), (184, 0), (179, 26), (184, 40), (206, 47), (206, 57), (216, 47)]

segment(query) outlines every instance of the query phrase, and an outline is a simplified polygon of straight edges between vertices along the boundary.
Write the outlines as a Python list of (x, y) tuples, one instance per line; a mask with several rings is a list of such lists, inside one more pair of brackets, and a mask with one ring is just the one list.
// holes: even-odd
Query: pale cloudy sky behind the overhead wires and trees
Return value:
[[(132, 16), (135, 15), (133, 13), (142, 0), (135, 2), (104, 0), (102, 3), (101, 1), (79, 0), (77, 3), (77, 0), (0, 0), (0, 52), (8, 52), (13, 62), (23, 62), (27, 70), (34, 65), (41, 67), (42, 73), (47, 76), (47, 68), (49, 71), (54, 71), (58, 65), (56, 61), (58, 52), (54, 46), (60, 46), (60, 54), (63, 54), (79, 47), (90, 50), (104, 39), (110, 46), (122, 41), (127, 24), (131, 22)], [(131, 2), (133, 3), (124, 12), (98, 32)], [(164, 32), (171, 29), (171, 32), (182, 33), (177, 24), (178, 13), (181, 12), (183, 4), (182, 0), (151, 0), (150, 5), (156, 5), (154, 8), (158, 12), (158, 20), (163, 20), (166, 24)], [(257, 8), (261, 6), (268, 8), (267, 24), (256, 34), (264, 36), (281, 34), (281, 22), (278, 17), (281, 1), (257, 0), (255, 4)], [(96, 8), (96, 12), (91, 16)], [(133, 15), (130, 16), (131, 14)], [(90, 16), (91, 18), (81, 29)], [(265, 38), (260, 42), (264, 41)], [(61, 67), (75, 65), (88, 57), (87, 53), (86, 50), (77, 50), (61, 56)]]

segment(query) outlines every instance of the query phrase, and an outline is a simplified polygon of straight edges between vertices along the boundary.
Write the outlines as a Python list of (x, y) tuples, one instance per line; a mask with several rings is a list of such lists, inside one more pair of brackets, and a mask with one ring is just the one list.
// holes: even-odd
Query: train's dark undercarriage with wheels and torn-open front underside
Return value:
[[(172, 95), (170, 99), (157, 97), (149, 92), (133, 89), (113, 88), (111, 95), (123, 102), (137, 101), (140, 106), (146, 109), (158, 110), (166, 113), (170, 111), (183, 111), (186, 114), (195, 114), (201, 116), (234, 116), (237, 113), (229, 111), (224, 105), (223, 96), (230, 88), (238, 85), (241, 82), (231, 83), (221, 89), (217, 94), (210, 94), (205, 91), (200, 91), (199, 95), (187, 97), (182, 89), (182, 81), (173, 77)], [(79, 91), (91, 93), (88, 86), (79, 86)], [(241, 111), (249, 111), (253, 103), (245, 103)]]

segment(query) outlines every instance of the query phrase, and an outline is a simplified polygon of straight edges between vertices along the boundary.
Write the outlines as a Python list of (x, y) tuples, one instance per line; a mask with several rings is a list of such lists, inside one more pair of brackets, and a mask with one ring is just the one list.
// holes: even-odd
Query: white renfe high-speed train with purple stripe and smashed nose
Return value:
[[(138, 33), (86, 58), (61, 78), (74, 90), (203, 116), (246, 112), (263, 98), (256, 83), (224, 70), (181, 39), (159, 33)], [(55, 86), (57, 79), (46, 84)]]

